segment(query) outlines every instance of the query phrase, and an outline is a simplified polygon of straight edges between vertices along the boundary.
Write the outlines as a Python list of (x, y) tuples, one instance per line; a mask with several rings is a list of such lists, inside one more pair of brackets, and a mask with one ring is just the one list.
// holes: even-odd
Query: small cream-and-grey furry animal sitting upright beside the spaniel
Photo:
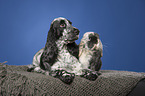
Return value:
[(99, 71), (102, 66), (103, 45), (99, 35), (95, 32), (86, 32), (79, 44), (79, 61), (83, 69)]

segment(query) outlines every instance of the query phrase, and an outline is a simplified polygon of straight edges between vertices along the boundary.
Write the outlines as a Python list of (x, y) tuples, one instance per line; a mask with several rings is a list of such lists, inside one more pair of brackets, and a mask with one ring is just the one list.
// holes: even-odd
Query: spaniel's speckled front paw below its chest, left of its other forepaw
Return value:
[(65, 70), (56, 70), (51, 72), (51, 76), (59, 78), (61, 81), (63, 81), (66, 84), (71, 84), (75, 78), (74, 73), (69, 73)]

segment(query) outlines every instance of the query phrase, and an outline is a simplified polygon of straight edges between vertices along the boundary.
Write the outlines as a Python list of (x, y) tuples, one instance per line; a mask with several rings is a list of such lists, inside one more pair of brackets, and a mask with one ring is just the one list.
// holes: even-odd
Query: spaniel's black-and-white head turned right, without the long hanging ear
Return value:
[(79, 38), (79, 30), (72, 26), (72, 22), (59, 17), (52, 21), (49, 34), (66, 43), (73, 43)]

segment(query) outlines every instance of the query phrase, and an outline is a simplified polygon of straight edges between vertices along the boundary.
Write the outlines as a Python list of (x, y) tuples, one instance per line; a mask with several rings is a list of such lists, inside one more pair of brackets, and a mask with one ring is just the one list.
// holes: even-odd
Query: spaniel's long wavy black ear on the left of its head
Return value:
[(57, 30), (54, 29), (53, 24), (50, 26), (50, 30), (47, 36), (47, 42), (45, 44), (44, 52), (41, 55), (40, 59), (40, 67), (43, 70), (50, 70), (50, 66), (52, 66), (56, 62), (58, 49), (56, 45), (56, 40), (59, 39), (57, 37)]

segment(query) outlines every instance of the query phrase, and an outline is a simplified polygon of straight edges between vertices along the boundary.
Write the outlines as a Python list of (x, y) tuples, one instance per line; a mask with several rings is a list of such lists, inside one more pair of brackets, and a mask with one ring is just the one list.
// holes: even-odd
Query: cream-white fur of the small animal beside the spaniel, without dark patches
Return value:
[(97, 49), (97, 51), (101, 51), (101, 56), (102, 54), (102, 49), (103, 49), (103, 45), (101, 40), (98, 38), (98, 43), (96, 42), (96, 44), (93, 46), (92, 49), (90, 49), (87, 46), (87, 42), (89, 41), (89, 35), (93, 34), (95, 35), (94, 32), (86, 32), (81, 40), (81, 43), (79, 45), (79, 61), (82, 64), (82, 68), (83, 69), (88, 69), (89, 65), (90, 65), (90, 60), (93, 56), (94, 53), (94, 49)]

